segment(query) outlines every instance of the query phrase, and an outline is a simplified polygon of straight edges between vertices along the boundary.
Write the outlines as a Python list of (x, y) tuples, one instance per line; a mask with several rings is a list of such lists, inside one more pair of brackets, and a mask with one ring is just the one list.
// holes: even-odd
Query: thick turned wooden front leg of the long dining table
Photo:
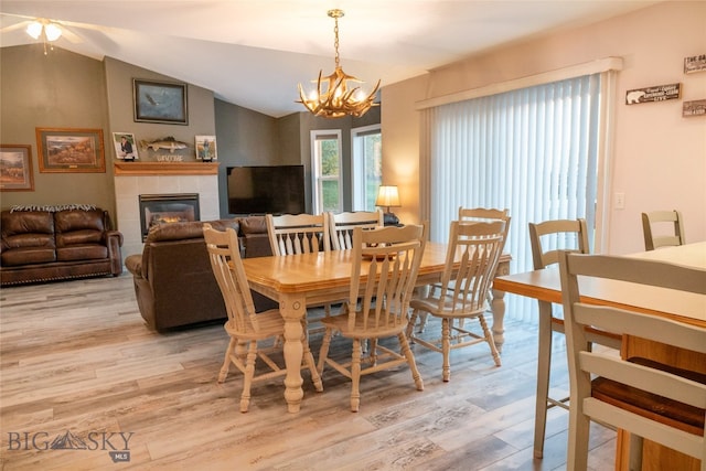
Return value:
[(287, 376), (285, 376), (285, 400), (290, 413), (298, 413), (304, 392), (301, 388), (301, 360), (303, 346), (301, 339), (303, 330), (301, 320), (307, 315), (304, 301), (297, 298), (285, 297), (279, 302), (279, 309), (285, 318), (285, 365)]

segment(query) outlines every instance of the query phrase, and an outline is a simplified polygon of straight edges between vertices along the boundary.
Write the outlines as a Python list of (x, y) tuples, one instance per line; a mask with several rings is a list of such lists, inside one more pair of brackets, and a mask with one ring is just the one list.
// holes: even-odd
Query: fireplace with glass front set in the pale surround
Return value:
[(142, 242), (154, 224), (200, 221), (197, 193), (141, 194), (139, 199)]

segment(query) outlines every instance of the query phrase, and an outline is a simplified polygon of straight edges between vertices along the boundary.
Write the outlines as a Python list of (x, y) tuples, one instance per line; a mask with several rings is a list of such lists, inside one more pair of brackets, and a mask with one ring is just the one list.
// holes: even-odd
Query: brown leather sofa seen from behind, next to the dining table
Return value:
[[(147, 325), (167, 331), (227, 317), (203, 239), (204, 222), (169, 223), (150, 227), (142, 254), (125, 265), (132, 274), (138, 307)], [(271, 255), (264, 216), (207, 221), (214, 228), (238, 233), (242, 257)], [(253, 293), (256, 311), (277, 307)]]

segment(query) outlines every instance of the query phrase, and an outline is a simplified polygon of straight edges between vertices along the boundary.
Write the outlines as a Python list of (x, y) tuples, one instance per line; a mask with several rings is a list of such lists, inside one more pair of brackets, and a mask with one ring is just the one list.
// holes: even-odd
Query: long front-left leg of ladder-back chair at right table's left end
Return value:
[(539, 302), (537, 397), (534, 416), (534, 457), (544, 456), (544, 435), (547, 425), (549, 370), (552, 367), (552, 304)]

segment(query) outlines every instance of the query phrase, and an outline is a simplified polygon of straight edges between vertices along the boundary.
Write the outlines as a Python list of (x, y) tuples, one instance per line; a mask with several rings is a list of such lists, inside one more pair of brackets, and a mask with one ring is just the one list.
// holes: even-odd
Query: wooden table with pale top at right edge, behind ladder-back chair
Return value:
[[(666, 261), (706, 269), (706, 242), (663, 247), (656, 250), (628, 254), (627, 257)], [(706, 296), (677, 292), (666, 288), (639, 286), (624, 281), (579, 277), (581, 301), (618, 307), (660, 315), (706, 329)], [(499, 276), (494, 288), (541, 301), (561, 303), (561, 281), (557, 266), (541, 270)], [(685, 370), (706, 374), (706, 355), (639, 338), (623, 338), (621, 355), (643, 356)], [(628, 469), (629, 433), (619, 430), (616, 469)], [(698, 469), (698, 460), (645, 440), (646, 469)], [(696, 464), (695, 464), (696, 462)], [(676, 468), (674, 468), (676, 465)]]

